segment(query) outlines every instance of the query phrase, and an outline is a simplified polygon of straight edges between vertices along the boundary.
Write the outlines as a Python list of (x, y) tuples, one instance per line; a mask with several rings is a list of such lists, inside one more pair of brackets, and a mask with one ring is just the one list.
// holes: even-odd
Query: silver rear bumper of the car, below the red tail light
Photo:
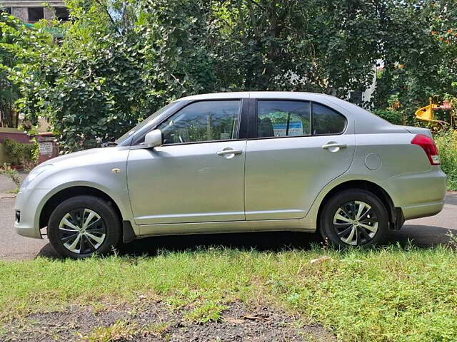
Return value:
[(433, 216), (443, 209), (446, 175), (440, 167), (391, 177), (381, 186), (391, 195), (395, 207), (401, 207), (405, 219)]

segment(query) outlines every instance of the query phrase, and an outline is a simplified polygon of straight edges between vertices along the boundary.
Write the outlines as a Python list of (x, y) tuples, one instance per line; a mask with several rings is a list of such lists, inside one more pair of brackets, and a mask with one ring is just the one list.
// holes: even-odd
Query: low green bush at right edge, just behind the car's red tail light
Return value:
[(441, 169), (448, 176), (448, 189), (457, 190), (457, 133), (452, 130), (435, 136)]

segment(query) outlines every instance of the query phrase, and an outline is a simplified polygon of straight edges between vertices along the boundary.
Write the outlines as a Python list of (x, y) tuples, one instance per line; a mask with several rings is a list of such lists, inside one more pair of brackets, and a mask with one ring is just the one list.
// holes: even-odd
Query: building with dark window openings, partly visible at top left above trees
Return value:
[(0, 6), (7, 13), (29, 24), (34, 24), (40, 19), (69, 20), (69, 11), (66, 9), (64, 1), (0, 0)]

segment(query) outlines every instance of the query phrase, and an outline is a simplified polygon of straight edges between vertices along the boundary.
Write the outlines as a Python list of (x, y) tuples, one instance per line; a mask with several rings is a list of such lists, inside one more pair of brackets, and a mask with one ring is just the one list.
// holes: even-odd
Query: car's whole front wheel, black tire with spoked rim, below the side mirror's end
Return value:
[(51, 213), (48, 238), (61, 257), (104, 255), (119, 244), (121, 220), (116, 210), (99, 197), (71, 197)]

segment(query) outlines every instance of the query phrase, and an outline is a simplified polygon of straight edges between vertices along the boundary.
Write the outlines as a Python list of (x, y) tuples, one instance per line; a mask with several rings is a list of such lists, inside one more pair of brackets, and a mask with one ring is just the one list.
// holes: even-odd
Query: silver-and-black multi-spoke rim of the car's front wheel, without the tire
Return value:
[(59, 239), (63, 246), (75, 254), (95, 252), (106, 238), (106, 224), (94, 210), (71, 210), (59, 223)]

